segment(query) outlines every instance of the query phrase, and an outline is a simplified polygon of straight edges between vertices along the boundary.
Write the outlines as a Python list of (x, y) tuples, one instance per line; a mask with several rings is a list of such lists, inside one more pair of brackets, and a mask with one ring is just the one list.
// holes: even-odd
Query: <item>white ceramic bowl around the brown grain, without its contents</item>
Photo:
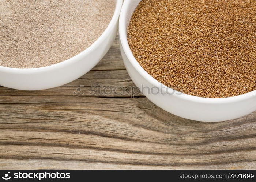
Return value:
[[(124, 1), (119, 18), (119, 35), (125, 67), (133, 82), (149, 100), (182, 118), (207, 122), (235, 119), (256, 110), (256, 90), (230, 98), (201, 98), (181, 94), (150, 76), (132, 55), (127, 41), (127, 26), (140, 1)], [(151, 91), (148, 92), (148, 89)]]

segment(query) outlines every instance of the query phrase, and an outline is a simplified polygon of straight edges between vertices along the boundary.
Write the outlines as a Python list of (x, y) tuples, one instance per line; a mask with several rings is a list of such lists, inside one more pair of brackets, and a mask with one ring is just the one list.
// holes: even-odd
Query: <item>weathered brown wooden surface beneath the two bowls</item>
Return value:
[(0, 169), (256, 169), (256, 112), (204, 123), (163, 111), (134, 88), (117, 38), (74, 82), (0, 87)]

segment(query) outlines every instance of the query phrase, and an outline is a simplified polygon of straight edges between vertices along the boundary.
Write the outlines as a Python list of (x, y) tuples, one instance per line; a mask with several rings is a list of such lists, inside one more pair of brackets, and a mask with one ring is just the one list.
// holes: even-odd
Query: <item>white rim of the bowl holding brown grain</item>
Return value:
[[(120, 37), (120, 46), (124, 50), (124, 54), (127, 56), (129, 62), (132, 64), (133, 68), (144, 78), (152, 84), (155, 87), (158, 87), (159, 89), (162, 89), (163, 87), (167, 87), (163, 85), (162, 83), (158, 82), (155, 78), (153, 78), (150, 74), (148, 74), (142, 66), (137, 62), (135, 57), (132, 54), (132, 51), (129, 47), (128, 40), (127, 40), (127, 15), (129, 10), (129, 1), (124, 0), (120, 17), (119, 17), (119, 37)], [(193, 95), (184, 94), (181, 92), (178, 92), (170, 87), (167, 87), (168, 93), (173, 93), (172, 96), (176, 96), (180, 99), (185, 99), (197, 103), (210, 103), (210, 104), (221, 104), (221, 103), (232, 103), (232, 102), (238, 102), (240, 100), (245, 100), (252, 98), (253, 96), (256, 96), (256, 90), (253, 90), (251, 92), (248, 92), (246, 94), (238, 95), (238, 96), (232, 96), (227, 98), (204, 98), (204, 97), (198, 97)], [(163, 90), (162, 90), (163, 91)]]

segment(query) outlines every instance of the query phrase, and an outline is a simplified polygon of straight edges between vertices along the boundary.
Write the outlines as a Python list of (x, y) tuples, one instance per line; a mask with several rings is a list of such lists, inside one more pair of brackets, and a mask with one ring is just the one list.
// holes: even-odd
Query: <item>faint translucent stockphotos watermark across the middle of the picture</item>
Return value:
[[(181, 90), (181, 92), (177, 92), (175, 90)], [(78, 96), (82, 96), (82, 95), (86, 95), (88, 94), (89, 91), (89, 95), (98, 95), (98, 96), (126, 96), (126, 97), (136, 97), (136, 96), (140, 96), (142, 94), (147, 94), (147, 95), (181, 95), (182, 94), (182, 88), (174, 88), (174, 89), (170, 89), (169, 87), (166, 87), (164, 85), (161, 85), (160, 87), (148, 87), (148, 86), (144, 86), (141, 85), (140, 88), (136, 87), (136, 86), (102, 86), (101, 84), (98, 84), (97, 86), (91, 86), (88, 87), (87, 86), (83, 86), (81, 85), (80, 87), (78, 87), (76, 89), (76, 91), (74, 91), (73, 93), (75, 95)]]

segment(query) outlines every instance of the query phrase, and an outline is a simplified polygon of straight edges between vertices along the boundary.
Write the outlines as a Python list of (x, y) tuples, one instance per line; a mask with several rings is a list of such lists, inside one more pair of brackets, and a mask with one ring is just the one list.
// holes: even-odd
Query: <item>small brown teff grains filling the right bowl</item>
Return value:
[(142, 0), (128, 42), (144, 70), (185, 94), (256, 90), (255, 0)]

